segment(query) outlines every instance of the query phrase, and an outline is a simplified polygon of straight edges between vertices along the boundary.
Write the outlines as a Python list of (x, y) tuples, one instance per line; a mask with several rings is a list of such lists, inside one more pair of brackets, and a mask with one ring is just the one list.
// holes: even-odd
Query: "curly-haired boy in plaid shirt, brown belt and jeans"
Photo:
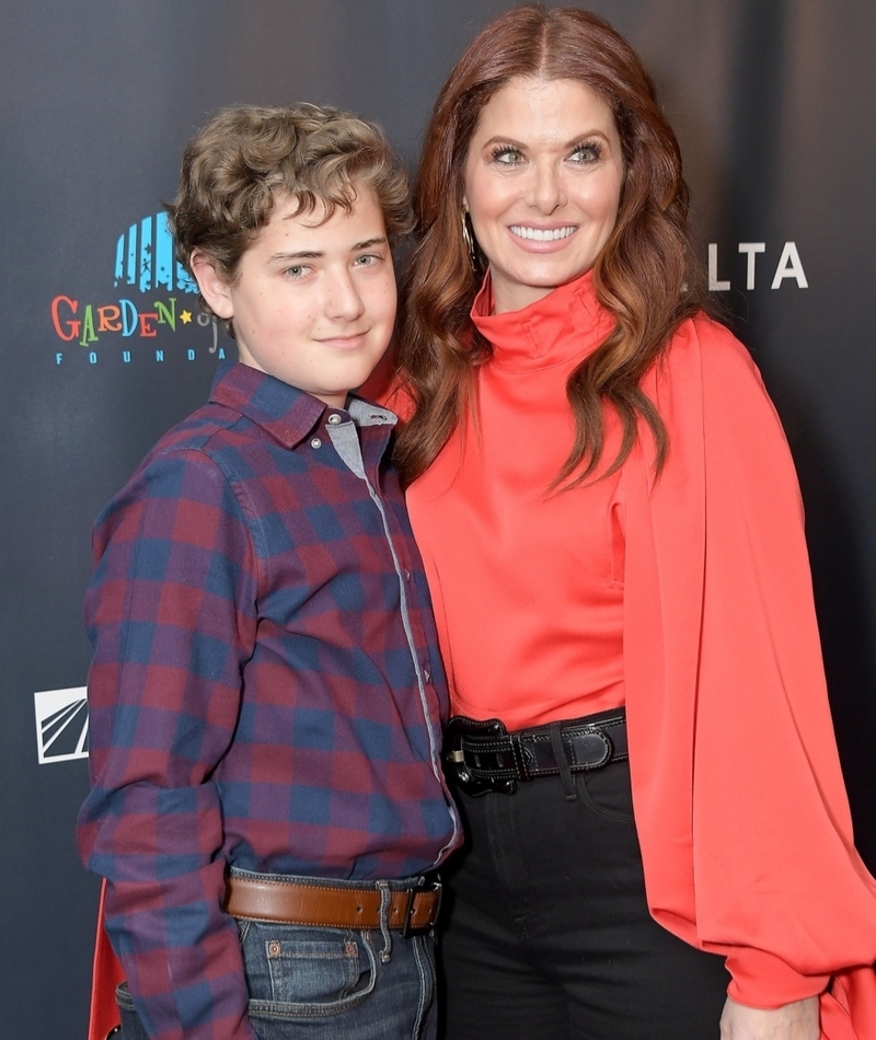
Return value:
[(123, 1036), (431, 1037), (446, 692), (395, 417), (348, 396), (392, 333), (404, 173), (346, 113), (235, 107), (170, 213), (240, 363), (95, 525), (79, 846)]

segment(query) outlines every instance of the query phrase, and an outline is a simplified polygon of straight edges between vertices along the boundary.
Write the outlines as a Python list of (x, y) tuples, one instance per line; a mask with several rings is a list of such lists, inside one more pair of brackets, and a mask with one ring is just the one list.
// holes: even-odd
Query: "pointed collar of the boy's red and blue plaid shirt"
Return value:
[(347, 408), (333, 408), (319, 397), (240, 361), (223, 361), (214, 379), (210, 401), (226, 405), (267, 430), (284, 447), (295, 448), (328, 413), (345, 412), (357, 426), (394, 426), (392, 412), (350, 396)]

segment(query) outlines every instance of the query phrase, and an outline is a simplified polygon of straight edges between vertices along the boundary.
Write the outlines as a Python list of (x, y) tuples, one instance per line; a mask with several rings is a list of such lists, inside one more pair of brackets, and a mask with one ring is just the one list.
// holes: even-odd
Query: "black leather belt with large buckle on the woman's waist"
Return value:
[(626, 756), (623, 708), (510, 733), (497, 718), (454, 715), (445, 738), (449, 771), (474, 797), (491, 790), (510, 795), (519, 781), (598, 770)]

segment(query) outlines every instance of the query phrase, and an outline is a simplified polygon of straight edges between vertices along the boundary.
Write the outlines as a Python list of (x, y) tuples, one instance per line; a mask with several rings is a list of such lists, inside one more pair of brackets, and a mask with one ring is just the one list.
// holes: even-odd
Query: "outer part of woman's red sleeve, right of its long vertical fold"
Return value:
[(876, 886), (853, 844), (791, 452), (747, 351), (703, 327), (698, 922), (735, 947), (730, 995), (770, 1007), (873, 961)]

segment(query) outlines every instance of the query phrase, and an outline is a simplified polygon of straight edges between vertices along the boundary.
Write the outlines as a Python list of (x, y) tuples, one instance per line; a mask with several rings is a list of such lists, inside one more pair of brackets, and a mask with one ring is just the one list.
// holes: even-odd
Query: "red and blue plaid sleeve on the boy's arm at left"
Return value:
[(212, 779), (255, 642), (244, 511), (206, 454), (159, 453), (99, 519), (94, 552), (80, 855), (108, 880), (107, 932), (150, 1037), (251, 1040)]

